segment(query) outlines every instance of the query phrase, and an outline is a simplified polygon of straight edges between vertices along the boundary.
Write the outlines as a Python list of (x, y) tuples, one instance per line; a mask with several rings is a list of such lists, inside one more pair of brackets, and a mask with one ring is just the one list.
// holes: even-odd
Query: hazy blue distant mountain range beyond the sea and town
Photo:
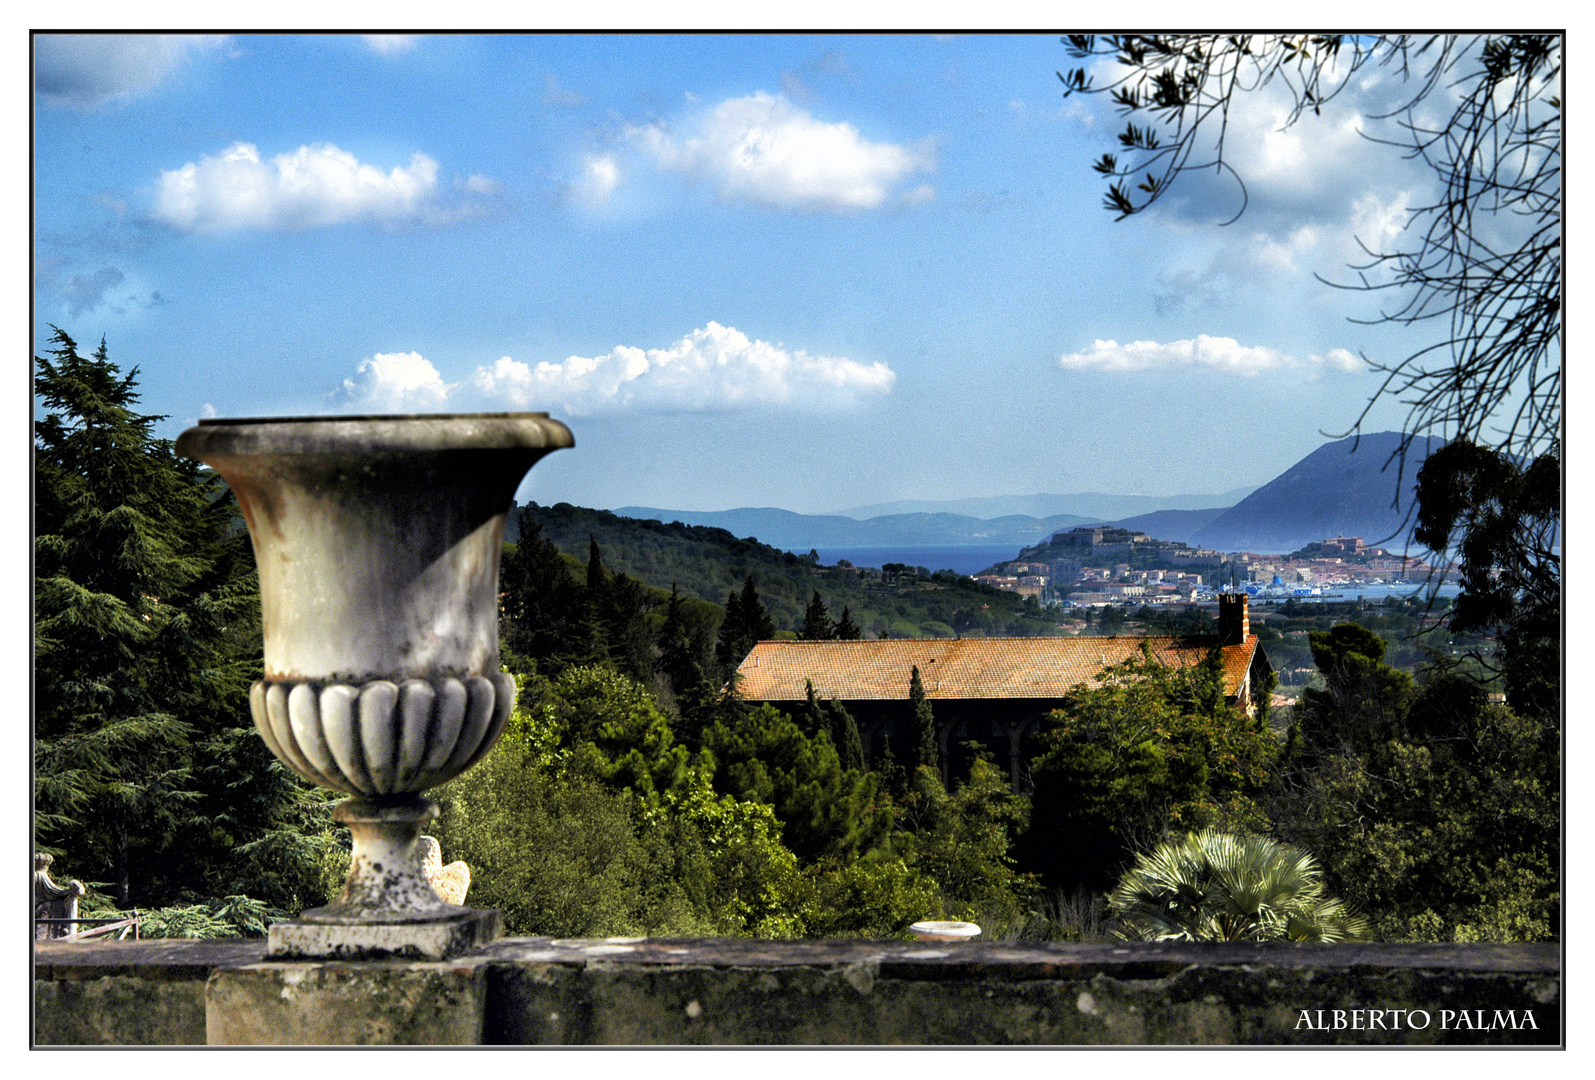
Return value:
[(620, 506), (614, 512), (723, 528), (796, 552), (810, 547), (981, 544), (1013, 544), (1018, 552), (1078, 525), (1116, 525), (1156, 539), (1223, 552), (1294, 552), (1327, 536), (1361, 536), (1369, 544), (1399, 549), (1412, 528), (1407, 515), (1418, 466), (1429, 456), (1431, 445), (1440, 445), (1440, 440), (1413, 440), (1402, 471), (1397, 509), (1392, 503), (1399, 466), (1391, 455), (1400, 439), (1400, 432), (1384, 431), (1324, 443), (1260, 488), (1235, 488), (1220, 495), (1011, 495), (880, 503), (842, 514), (796, 514), (775, 507), (667, 510), (651, 506)]

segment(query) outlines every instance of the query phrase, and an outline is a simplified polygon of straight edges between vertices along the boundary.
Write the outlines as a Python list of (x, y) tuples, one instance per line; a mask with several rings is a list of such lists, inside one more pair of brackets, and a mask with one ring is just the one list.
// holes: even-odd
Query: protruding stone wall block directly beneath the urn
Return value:
[(475, 1045), (475, 964), (260, 964), (206, 984), (211, 1045)]

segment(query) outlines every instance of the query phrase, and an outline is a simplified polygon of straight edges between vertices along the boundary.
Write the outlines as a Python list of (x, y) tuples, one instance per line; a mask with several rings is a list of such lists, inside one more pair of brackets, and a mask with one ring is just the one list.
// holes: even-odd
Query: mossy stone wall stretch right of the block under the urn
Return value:
[[(509, 940), (483, 956), (494, 960), (486, 1023), (494, 1043), (1555, 1045), (1562, 1037), (1554, 946)], [(1426, 1016), (1424, 1027), (1413, 1031), (1397, 1010)], [(1464, 1011), (1515, 1026), (1464, 1026)]]

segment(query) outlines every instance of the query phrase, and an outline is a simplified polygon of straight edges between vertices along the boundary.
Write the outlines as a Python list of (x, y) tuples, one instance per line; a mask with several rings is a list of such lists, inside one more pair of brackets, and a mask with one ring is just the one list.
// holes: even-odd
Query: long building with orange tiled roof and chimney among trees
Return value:
[(1225, 697), (1246, 711), (1271, 670), (1250, 633), (1247, 598), (1235, 593), (1220, 598), (1217, 637), (759, 641), (737, 668), (737, 688), (748, 702), (790, 707), (813, 684), (818, 699), (842, 702), (853, 715), (866, 758), (885, 740), (904, 759), (908, 688), (917, 667), (949, 772), (967, 771), (971, 755), (962, 743), (973, 739), (1008, 758), (1018, 790), (1026, 786), (1040, 719), (1105, 668), (1140, 656), (1144, 644), (1171, 667), (1199, 664), (1219, 644)]

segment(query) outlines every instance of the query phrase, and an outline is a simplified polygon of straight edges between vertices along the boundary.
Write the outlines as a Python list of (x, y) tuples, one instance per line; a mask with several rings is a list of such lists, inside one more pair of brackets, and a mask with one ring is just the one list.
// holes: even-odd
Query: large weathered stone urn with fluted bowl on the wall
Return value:
[(515, 488), (571, 447), (547, 413), (203, 420), (177, 439), (231, 487), (260, 573), (255, 727), (282, 764), (348, 793), (343, 893), (270, 930), (273, 957), (442, 959), (498, 936), (445, 903), (416, 852), (426, 788), (493, 748), (515, 702), (498, 577)]

